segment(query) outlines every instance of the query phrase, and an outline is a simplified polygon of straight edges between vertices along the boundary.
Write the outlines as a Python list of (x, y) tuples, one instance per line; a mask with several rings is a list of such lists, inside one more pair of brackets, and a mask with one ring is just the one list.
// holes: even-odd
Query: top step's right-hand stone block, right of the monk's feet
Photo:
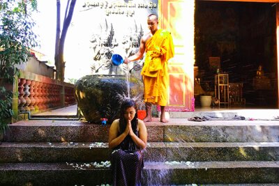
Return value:
[(175, 121), (164, 125), (164, 141), (279, 142), (278, 121)]

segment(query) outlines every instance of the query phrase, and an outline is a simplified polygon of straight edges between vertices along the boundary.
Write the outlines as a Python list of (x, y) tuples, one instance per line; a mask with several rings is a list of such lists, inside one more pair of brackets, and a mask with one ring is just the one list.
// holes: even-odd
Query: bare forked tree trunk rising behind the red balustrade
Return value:
[(65, 17), (63, 21), (63, 29), (61, 31), (60, 25), (60, 12), (61, 12), (61, 4), (60, 0), (56, 0), (56, 7), (57, 7), (57, 16), (56, 16), (56, 42), (55, 42), (55, 66), (56, 66), (56, 79), (60, 81), (64, 81), (64, 74), (65, 74), (65, 61), (64, 61), (64, 44), (66, 39), (66, 34), (68, 28), (70, 26), (70, 22), (73, 17), (73, 12), (75, 9), (75, 2), (76, 0), (68, 0)]

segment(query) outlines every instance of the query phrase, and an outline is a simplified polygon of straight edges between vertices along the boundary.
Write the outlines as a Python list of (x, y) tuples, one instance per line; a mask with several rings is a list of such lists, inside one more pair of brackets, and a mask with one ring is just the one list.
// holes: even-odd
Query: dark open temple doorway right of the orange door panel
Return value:
[[(229, 98), (245, 100), (235, 106), (278, 108), (276, 45), (275, 3), (196, 1), (195, 78), (202, 93), (215, 94), (218, 69), (229, 75), (230, 86), (237, 86)], [(220, 63), (210, 57), (220, 58)], [(200, 93), (195, 90), (195, 95)]]

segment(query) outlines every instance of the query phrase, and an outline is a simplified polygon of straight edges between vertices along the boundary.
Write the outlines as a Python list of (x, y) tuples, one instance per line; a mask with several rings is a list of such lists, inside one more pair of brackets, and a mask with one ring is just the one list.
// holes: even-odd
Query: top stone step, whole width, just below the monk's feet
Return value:
[[(146, 123), (150, 142), (279, 142), (278, 121), (188, 121), (157, 118)], [(10, 125), (7, 142), (107, 142), (110, 125), (82, 121), (20, 121)]]

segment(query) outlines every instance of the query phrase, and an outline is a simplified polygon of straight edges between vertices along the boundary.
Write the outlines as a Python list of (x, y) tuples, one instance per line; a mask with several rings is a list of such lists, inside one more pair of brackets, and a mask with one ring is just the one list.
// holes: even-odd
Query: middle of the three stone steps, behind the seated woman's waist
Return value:
[[(0, 162), (98, 162), (110, 160), (107, 144), (9, 143), (0, 146)], [(163, 143), (150, 142), (144, 160), (162, 161), (279, 161), (279, 143)]]

